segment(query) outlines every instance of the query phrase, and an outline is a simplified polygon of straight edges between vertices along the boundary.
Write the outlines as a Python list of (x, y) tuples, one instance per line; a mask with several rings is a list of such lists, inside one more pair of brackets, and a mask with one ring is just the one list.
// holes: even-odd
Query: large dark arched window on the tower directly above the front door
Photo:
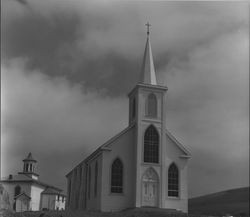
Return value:
[(159, 162), (159, 135), (153, 125), (144, 134), (144, 162)]

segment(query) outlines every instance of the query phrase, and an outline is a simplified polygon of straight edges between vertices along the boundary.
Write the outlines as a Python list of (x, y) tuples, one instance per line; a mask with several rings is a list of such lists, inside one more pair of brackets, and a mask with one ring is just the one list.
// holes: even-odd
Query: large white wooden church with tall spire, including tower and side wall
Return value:
[(147, 25), (140, 80), (128, 94), (128, 126), (67, 175), (68, 209), (158, 207), (188, 212), (191, 154), (166, 130), (166, 92), (157, 84)]

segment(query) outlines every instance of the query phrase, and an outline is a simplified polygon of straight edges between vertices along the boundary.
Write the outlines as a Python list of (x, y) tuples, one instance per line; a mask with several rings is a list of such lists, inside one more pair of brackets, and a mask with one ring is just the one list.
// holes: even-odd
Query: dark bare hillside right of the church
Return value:
[(189, 199), (189, 213), (249, 216), (249, 187)]

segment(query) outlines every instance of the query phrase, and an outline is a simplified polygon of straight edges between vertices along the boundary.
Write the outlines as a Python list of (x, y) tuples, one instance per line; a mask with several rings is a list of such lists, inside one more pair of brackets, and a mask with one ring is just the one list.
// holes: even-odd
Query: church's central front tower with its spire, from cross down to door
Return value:
[[(147, 23), (147, 39), (143, 55), (140, 80), (128, 94), (129, 125), (136, 126), (136, 191), (135, 206), (163, 207), (166, 175), (163, 171), (166, 153), (166, 100), (167, 87), (157, 84), (150, 43), (150, 24)], [(154, 174), (154, 184), (148, 174)], [(145, 190), (144, 190), (145, 189)], [(154, 190), (152, 190), (154, 189)], [(148, 197), (152, 190), (154, 197)], [(148, 199), (151, 198), (151, 199)]]

